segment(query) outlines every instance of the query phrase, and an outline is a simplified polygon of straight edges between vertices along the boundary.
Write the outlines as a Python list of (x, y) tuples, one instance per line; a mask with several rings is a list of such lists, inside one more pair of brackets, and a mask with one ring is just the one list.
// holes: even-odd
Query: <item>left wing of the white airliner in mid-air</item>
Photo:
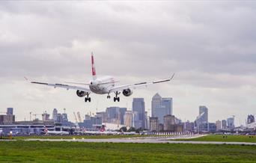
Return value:
[[(27, 81), (28, 79), (25, 78)], [(31, 82), (32, 84), (43, 84), (43, 85), (47, 85), (47, 86), (50, 86), (50, 87), (61, 87), (61, 88), (64, 88), (64, 89), (71, 89), (71, 90), (82, 90), (82, 91), (85, 91), (85, 92), (90, 92), (91, 93), (91, 90), (89, 87), (80, 87), (80, 86), (76, 86), (76, 85), (68, 85), (68, 84), (52, 84), (52, 83), (44, 83), (44, 82)]]

